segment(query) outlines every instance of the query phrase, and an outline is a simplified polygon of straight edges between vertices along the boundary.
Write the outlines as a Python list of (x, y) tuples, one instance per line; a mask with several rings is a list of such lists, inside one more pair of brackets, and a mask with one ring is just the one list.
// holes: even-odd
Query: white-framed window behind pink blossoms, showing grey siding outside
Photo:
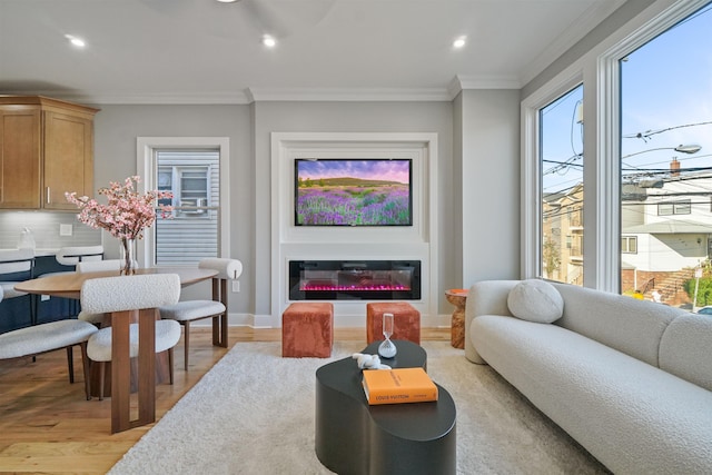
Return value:
[[(139, 241), (147, 265), (194, 266), (229, 255), (222, 226), (228, 214), (226, 138), (147, 137), (138, 139), (137, 169), (146, 189), (170, 190), (172, 219), (157, 219)], [(142, 245), (142, 247), (141, 247)]]

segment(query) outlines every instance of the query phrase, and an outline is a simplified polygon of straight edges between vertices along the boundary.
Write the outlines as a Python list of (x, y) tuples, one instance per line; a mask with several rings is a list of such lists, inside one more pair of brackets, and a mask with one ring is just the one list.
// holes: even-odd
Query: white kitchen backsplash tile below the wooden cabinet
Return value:
[[(60, 236), (59, 225), (70, 225), (71, 236)], [(18, 246), (23, 228), (30, 228), (38, 249), (101, 244), (101, 231), (77, 220), (75, 212), (0, 211), (0, 249)]]

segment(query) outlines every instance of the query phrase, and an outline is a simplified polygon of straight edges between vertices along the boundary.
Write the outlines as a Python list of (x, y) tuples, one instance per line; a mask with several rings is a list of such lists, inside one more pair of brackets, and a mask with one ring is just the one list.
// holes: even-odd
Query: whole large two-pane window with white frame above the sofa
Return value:
[[(647, 288), (650, 298), (666, 285), (661, 273), (676, 274), (672, 295), (684, 273), (709, 263), (710, 4), (621, 9), (606, 20), (621, 27), (592, 47), (576, 43), (524, 88), (523, 277)], [(665, 291), (663, 303), (684, 305)]]

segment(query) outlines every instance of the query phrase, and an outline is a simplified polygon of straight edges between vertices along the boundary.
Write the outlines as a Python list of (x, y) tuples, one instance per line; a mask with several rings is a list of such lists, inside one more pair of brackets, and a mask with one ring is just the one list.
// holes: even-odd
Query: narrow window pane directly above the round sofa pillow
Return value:
[(583, 86), (538, 112), (541, 263), (546, 279), (583, 285)]

